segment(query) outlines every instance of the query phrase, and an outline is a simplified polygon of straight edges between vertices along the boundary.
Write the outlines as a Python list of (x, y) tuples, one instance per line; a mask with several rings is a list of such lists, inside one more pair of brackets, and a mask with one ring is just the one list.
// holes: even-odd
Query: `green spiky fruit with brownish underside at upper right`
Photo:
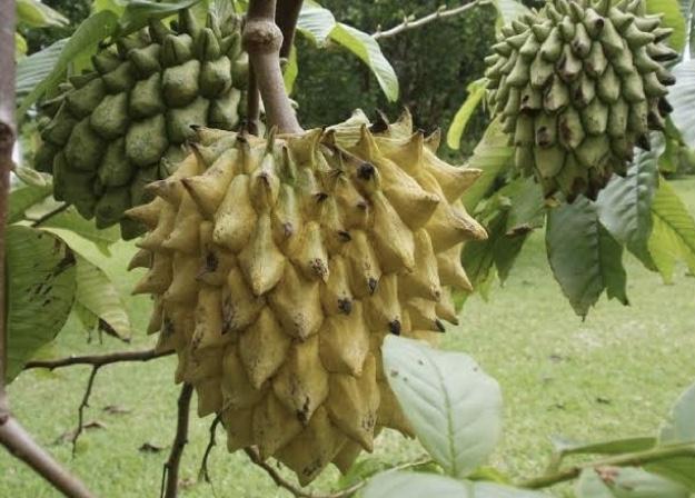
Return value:
[(490, 109), (547, 196), (595, 197), (671, 111), (672, 30), (639, 1), (610, 3), (548, 2), (504, 27), (487, 59)]

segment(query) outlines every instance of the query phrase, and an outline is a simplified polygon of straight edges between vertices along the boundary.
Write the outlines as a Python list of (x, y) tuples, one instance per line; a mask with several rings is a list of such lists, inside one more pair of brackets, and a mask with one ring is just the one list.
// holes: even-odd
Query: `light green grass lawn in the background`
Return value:
[[(675, 183), (695, 212), (695, 180)], [(123, 289), (133, 276), (119, 268), (131, 248), (116, 248), (109, 262)], [(488, 302), (471, 299), (463, 325), (450, 330), (443, 347), (475, 357), (496, 377), (505, 395), (505, 437), (494, 464), (514, 477), (530, 477), (544, 468), (556, 435), (599, 440), (654, 432), (676, 396), (695, 380), (695, 279), (681, 271), (676, 283), (665, 286), (658, 276), (628, 258), (628, 295), (632, 306), (600, 300), (586, 321), (572, 311), (549, 275), (543, 239), (532, 237), (503, 289), (494, 289)], [(147, 319), (147, 299), (128, 302), (137, 329)], [(136, 335), (132, 348), (145, 348), (151, 338)], [(87, 343), (86, 335), (70, 323), (51, 355), (123, 349), (105, 339)], [(21, 375), (10, 386), (14, 414), (22, 424), (98, 496), (158, 496), (161, 467), (172, 438), (178, 387), (172, 382), (171, 358), (150, 363), (105, 368), (86, 420), (106, 428), (87, 431), (78, 455), (71, 458), (67, 442), (54, 444), (77, 421), (77, 407), (87, 381), (87, 368)], [(126, 415), (107, 415), (103, 407), (118, 405)], [(193, 416), (181, 468), (186, 498), (212, 496), (209, 485), (193, 484), (207, 444), (210, 420)], [(219, 440), (224, 437), (220, 432)], [(167, 447), (143, 454), (143, 442)], [(379, 439), (376, 456), (403, 461), (421, 454), (415, 441), (395, 434)], [(0, 496), (54, 497), (48, 485), (0, 454)], [(228, 455), (222, 445), (212, 457), (216, 497), (286, 497), (245, 456)], [(327, 489), (337, 472), (329, 470), (318, 482)]]

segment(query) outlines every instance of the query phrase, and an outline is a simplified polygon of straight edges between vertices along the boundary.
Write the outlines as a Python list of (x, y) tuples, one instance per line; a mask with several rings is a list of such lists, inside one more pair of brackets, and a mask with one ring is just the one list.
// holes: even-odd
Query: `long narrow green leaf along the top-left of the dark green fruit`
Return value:
[(18, 110), (19, 119), (23, 118), (31, 104), (60, 82), (70, 62), (85, 50), (92, 49), (97, 43), (111, 36), (117, 26), (118, 16), (110, 10), (102, 10), (82, 21), (63, 46), (51, 72), (22, 99)]

